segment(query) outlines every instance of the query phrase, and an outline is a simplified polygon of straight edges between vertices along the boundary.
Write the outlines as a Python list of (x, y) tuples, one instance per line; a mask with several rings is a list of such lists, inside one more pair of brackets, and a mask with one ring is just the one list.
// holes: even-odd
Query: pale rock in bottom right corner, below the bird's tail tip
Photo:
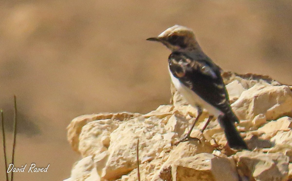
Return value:
[(237, 168), (249, 180), (278, 181), (287, 180), (289, 158), (281, 153), (237, 152), (234, 156)]

